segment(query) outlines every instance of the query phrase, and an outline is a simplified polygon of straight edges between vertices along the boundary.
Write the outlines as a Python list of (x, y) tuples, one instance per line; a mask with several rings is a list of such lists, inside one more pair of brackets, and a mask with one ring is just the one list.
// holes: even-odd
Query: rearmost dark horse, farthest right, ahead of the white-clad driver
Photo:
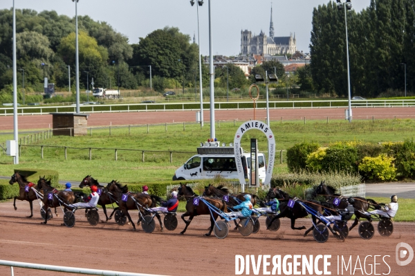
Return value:
[[(322, 195), (326, 199), (326, 202), (332, 203), (335, 197), (342, 197), (342, 195), (335, 193), (335, 188), (333, 186), (326, 185), (325, 181), (322, 181), (319, 186), (314, 190), (313, 196)], [(367, 219), (365, 217), (365, 212), (369, 209), (370, 206), (376, 206), (378, 203), (373, 199), (365, 199), (365, 197), (352, 197), (354, 199), (353, 208), (355, 210), (355, 220), (350, 226), (349, 230), (353, 229), (356, 225), (359, 224), (360, 218)], [(349, 203), (347, 201), (340, 201), (339, 209), (344, 209)]]

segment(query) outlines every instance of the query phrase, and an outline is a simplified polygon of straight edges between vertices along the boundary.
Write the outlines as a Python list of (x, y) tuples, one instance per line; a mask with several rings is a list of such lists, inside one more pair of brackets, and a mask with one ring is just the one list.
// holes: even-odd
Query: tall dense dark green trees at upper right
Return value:
[[(300, 81), (308, 89), (347, 96), (345, 27), (334, 1), (314, 8), (311, 64)], [(371, 0), (362, 12), (347, 11), (347, 30), (352, 96), (402, 95), (405, 65), (407, 91), (414, 91), (414, 0)]]

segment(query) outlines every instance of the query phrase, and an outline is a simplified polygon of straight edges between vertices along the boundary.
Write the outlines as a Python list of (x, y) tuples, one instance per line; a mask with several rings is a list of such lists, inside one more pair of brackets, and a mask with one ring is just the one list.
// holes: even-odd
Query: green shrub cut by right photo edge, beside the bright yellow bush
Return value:
[(414, 139), (405, 140), (396, 146), (396, 168), (403, 177), (415, 177), (415, 142)]

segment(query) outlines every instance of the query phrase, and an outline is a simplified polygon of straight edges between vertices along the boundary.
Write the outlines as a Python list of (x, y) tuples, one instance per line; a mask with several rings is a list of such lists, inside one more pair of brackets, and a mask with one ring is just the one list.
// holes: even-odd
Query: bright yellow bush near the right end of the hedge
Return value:
[(394, 157), (387, 157), (385, 154), (380, 154), (378, 157), (365, 157), (359, 164), (359, 170), (367, 179), (395, 180), (396, 168), (393, 161)]

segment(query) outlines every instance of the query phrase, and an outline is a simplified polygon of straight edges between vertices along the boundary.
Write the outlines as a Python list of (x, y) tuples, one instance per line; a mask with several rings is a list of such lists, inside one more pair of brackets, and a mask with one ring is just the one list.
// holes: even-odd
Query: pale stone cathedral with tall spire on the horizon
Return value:
[(274, 37), (273, 7), (271, 7), (270, 36), (264, 32), (253, 35), (241, 30), (241, 55), (293, 55), (297, 51), (295, 33), (289, 37)]

